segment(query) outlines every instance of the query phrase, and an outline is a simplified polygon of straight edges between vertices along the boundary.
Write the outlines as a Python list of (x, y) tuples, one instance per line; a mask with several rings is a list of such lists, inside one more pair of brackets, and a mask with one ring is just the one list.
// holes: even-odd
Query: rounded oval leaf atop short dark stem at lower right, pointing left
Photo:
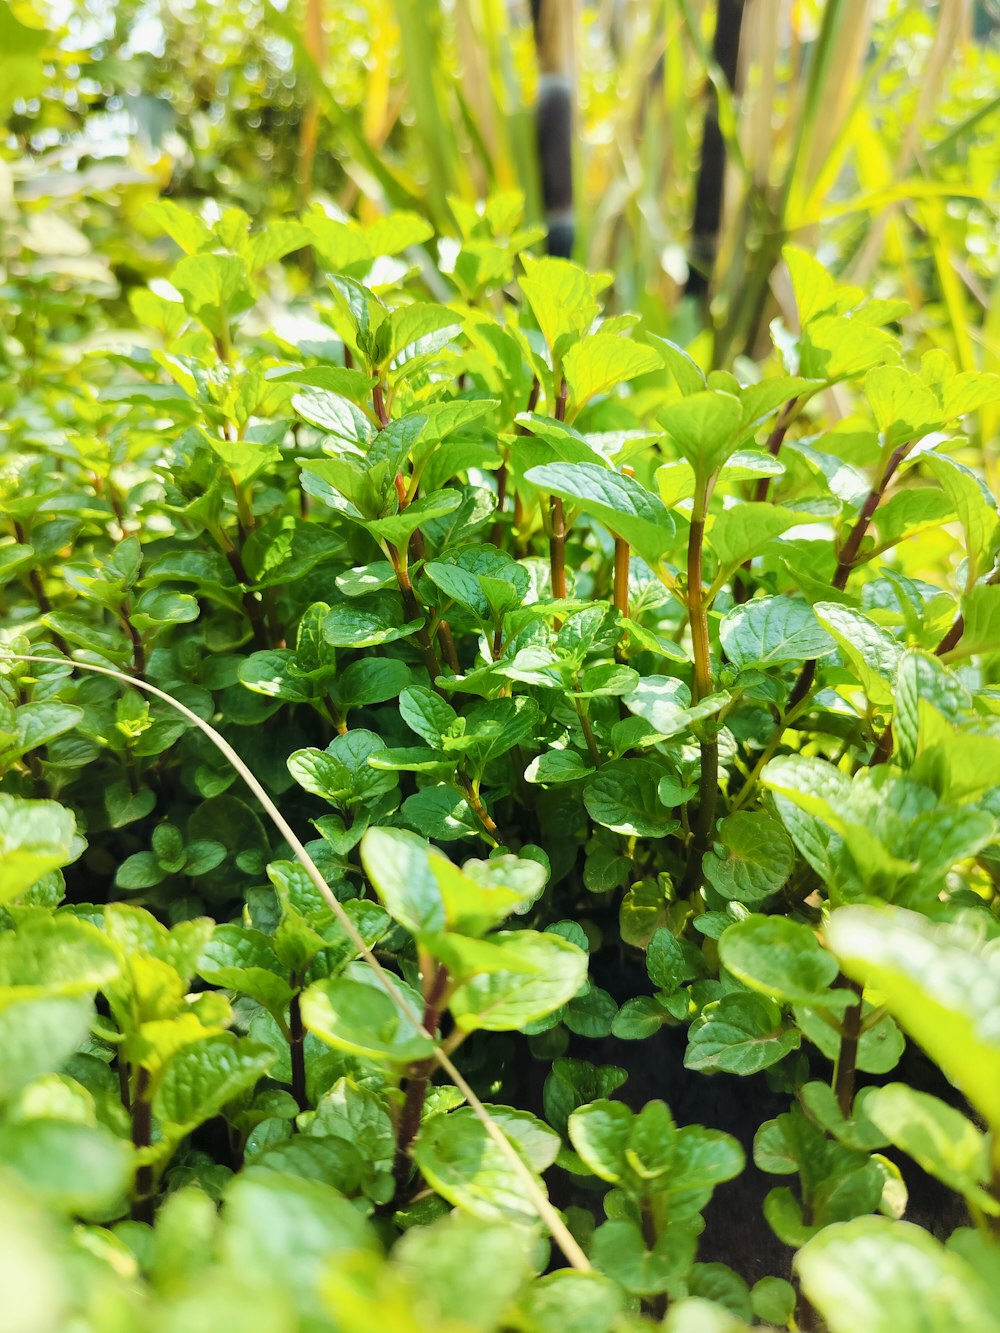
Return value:
[(831, 992), (839, 968), (807, 925), (788, 917), (749, 916), (719, 941), (719, 957), (744, 985), (783, 1004), (844, 1009), (849, 993)]

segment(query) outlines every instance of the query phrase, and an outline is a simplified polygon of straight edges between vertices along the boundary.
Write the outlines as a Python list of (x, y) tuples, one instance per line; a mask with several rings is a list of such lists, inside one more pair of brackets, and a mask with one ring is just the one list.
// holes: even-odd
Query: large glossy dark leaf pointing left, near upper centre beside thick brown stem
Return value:
[(529, 468), (525, 479), (599, 519), (628, 541), (652, 569), (673, 545), (673, 516), (633, 477), (596, 463), (548, 463)]

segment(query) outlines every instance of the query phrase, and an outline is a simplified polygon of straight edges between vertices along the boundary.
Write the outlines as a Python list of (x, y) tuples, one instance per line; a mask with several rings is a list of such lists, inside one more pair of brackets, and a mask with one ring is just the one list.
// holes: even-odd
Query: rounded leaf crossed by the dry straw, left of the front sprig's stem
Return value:
[[(401, 982), (396, 985), (413, 1012), (421, 1013), (423, 1002), (417, 996)], [(433, 1050), (431, 1038), (396, 1008), (377, 980), (367, 974), (317, 981), (303, 992), (300, 1006), (303, 1022), (320, 1041), (363, 1060), (408, 1065), (425, 1060)]]

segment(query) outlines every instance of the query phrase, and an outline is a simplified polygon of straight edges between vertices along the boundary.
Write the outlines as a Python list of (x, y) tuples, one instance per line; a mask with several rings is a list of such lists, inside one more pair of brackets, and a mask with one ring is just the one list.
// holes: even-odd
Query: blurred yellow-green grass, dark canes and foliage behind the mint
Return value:
[(791, 316), (791, 239), (1000, 369), (997, 32), (996, 0), (0, 0), (5, 345), (128, 319), (172, 257), (161, 196), (447, 236), (516, 189), (544, 223), (548, 80), (612, 308), (729, 365)]

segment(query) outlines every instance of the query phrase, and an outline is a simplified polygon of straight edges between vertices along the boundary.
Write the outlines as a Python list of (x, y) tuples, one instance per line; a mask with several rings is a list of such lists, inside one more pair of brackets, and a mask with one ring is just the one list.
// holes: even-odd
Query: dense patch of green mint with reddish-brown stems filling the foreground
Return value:
[(407, 213), (149, 216), (181, 257), (0, 473), (0, 1160), (57, 1318), (839, 1330), (920, 1270), (921, 1328), (1000, 1324), (1000, 379), (795, 248), (731, 372), (512, 196), (433, 273)]

